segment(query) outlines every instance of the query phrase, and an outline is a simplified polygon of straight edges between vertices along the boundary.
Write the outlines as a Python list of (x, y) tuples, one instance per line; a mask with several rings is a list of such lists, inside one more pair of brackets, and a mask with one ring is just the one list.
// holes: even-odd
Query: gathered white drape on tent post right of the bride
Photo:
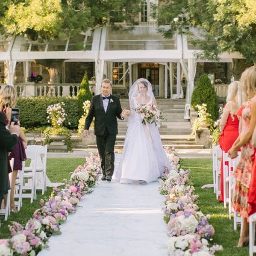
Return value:
[(184, 119), (190, 119), (190, 103), (191, 103), (191, 96), (194, 86), (194, 80), (196, 75), (196, 59), (190, 58), (189, 60), (180, 60), (181, 67), (183, 72), (186, 76), (187, 80), (187, 92), (186, 92), (186, 105), (184, 111)]

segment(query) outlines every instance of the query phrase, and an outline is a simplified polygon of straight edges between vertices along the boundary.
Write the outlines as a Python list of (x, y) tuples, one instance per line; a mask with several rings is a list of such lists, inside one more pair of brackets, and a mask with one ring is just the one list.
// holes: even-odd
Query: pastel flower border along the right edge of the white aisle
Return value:
[(166, 170), (159, 179), (160, 194), (164, 199), (164, 221), (167, 223), (168, 255), (212, 256), (221, 251), (221, 245), (211, 246), (214, 228), (196, 204), (198, 195), (190, 186), (190, 170), (180, 169), (180, 157), (175, 148), (165, 148), (172, 170)]

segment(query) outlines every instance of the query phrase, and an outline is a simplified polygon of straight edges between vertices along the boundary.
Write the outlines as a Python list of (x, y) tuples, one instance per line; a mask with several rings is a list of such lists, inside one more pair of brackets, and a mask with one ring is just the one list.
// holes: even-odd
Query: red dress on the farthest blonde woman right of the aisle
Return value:
[[(237, 137), (239, 136), (239, 119), (236, 114), (233, 115), (234, 120), (231, 117), (231, 114), (228, 115), (226, 120), (226, 125), (220, 134), (219, 145), (220, 148), (227, 153)], [(228, 162), (225, 163), (228, 165)], [(221, 158), (220, 163), (220, 197), (219, 201), (223, 202), (223, 163)]]

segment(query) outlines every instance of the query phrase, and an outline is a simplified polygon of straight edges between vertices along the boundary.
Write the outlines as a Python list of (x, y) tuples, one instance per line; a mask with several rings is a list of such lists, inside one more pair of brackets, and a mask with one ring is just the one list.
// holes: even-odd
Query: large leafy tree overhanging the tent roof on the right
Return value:
[(217, 60), (222, 52), (240, 52), (245, 60), (233, 60), (236, 79), (246, 66), (256, 63), (256, 5), (252, 0), (160, 0), (158, 21), (170, 24), (161, 30), (166, 37), (176, 31), (189, 33), (197, 27), (204, 40), (195, 41), (199, 56)]

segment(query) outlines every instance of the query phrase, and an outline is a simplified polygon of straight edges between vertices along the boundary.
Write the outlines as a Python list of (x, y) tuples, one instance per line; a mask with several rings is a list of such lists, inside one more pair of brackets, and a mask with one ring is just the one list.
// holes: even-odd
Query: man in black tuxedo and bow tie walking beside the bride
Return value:
[(117, 134), (117, 118), (123, 119), (128, 111), (122, 110), (118, 97), (111, 95), (112, 84), (102, 80), (101, 94), (93, 96), (84, 124), (83, 136), (87, 137), (95, 117), (95, 135), (103, 176), (101, 180), (111, 181), (114, 172), (114, 143)]

